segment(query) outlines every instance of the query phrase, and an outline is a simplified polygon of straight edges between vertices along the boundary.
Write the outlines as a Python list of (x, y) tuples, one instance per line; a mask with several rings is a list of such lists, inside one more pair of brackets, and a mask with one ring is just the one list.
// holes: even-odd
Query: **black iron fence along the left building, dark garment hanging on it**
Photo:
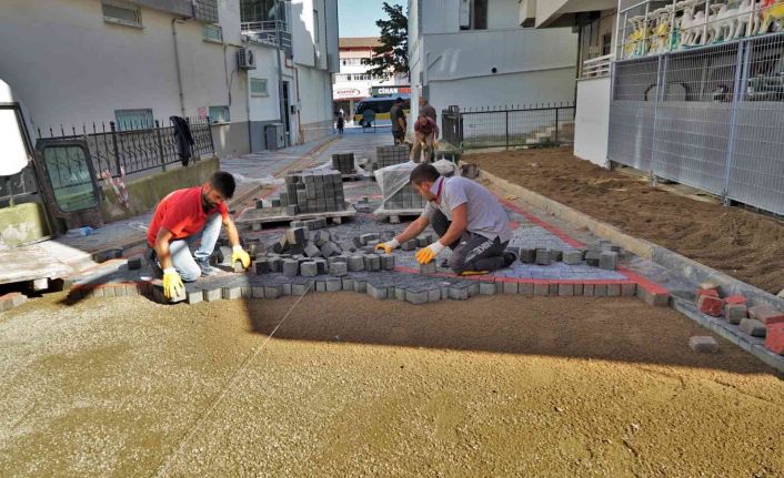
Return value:
[[(212, 132), (208, 119), (187, 119), (194, 144), (193, 157), (214, 152)], [(90, 150), (90, 156), (98, 175), (108, 172), (113, 177), (124, 174), (141, 173), (151, 170), (165, 171), (167, 165), (179, 163), (178, 142), (174, 128), (162, 126), (160, 121), (121, 122), (82, 124), (70, 130), (60, 126), (38, 130), (39, 140), (83, 139)]]

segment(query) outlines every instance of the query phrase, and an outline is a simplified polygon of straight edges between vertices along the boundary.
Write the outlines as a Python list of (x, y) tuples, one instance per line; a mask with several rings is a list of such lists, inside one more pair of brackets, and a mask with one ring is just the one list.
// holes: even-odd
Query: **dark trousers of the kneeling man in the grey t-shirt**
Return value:
[[(452, 224), (441, 211), (435, 211), (430, 223), (439, 237), (443, 237)], [(497, 271), (504, 266), (503, 252), (506, 245), (509, 242), (502, 243), (497, 237), (489, 240), (465, 231), (461, 238), (449, 246), (452, 250), (449, 266), (455, 274), (465, 271)]]

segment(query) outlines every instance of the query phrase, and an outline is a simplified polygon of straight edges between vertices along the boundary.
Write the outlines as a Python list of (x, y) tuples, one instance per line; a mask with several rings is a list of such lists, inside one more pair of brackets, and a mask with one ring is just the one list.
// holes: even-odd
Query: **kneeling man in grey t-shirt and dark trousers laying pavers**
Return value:
[(440, 238), (416, 252), (420, 264), (433, 261), (446, 247), (452, 250), (449, 267), (461, 275), (486, 274), (516, 261), (514, 253), (505, 251), (512, 238), (509, 216), (490, 191), (465, 177), (443, 177), (429, 163), (411, 172), (411, 183), (428, 205), (405, 231), (376, 248), (391, 253), (432, 224)]

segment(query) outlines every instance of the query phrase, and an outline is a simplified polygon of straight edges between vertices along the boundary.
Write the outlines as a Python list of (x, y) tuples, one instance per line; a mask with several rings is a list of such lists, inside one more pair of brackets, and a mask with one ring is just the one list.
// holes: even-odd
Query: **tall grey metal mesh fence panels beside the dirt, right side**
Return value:
[(784, 34), (619, 61), (610, 160), (784, 214)]

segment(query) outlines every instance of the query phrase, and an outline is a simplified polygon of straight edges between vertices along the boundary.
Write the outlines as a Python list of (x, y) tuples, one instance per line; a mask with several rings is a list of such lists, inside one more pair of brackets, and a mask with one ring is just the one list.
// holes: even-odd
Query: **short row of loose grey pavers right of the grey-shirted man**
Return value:
[(585, 264), (592, 267), (600, 267), (605, 271), (615, 271), (619, 256), (622, 253), (621, 247), (610, 241), (599, 241), (583, 250), (561, 251), (544, 247), (509, 247), (509, 251), (515, 253), (523, 264), (546, 266), (563, 262), (566, 265), (577, 265), (584, 261)]

